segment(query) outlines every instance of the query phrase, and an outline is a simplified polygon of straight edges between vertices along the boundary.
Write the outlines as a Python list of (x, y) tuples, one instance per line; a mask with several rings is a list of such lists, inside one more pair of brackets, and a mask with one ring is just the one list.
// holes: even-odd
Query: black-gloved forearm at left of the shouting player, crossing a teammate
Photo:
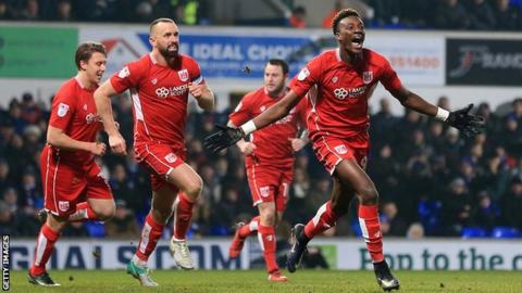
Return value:
[(296, 92), (290, 90), (277, 103), (269, 107), (256, 118), (241, 125), (239, 128), (216, 126), (220, 130), (204, 138), (204, 146), (212, 152), (219, 152), (235, 144), (257, 129), (261, 129), (286, 116), (301, 98), (302, 95), (299, 97)]

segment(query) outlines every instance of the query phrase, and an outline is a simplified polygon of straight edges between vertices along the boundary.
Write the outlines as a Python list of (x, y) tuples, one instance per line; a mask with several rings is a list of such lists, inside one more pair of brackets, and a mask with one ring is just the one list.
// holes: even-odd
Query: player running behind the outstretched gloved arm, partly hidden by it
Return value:
[[(287, 76), (288, 64), (285, 61), (269, 60), (264, 67), (264, 86), (245, 94), (229, 115), (227, 125), (241, 125), (275, 104), (288, 91)], [(237, 225), (229, 257), (239, 256), (246, 238), (257, 233), (266, 263), (269, 281), (272, 282), (288, 280), (281, 275), (275, 257), (275, 227), (281, 222), (288, 202), (288, 188), (294, 176), (294, 153), (308, 143), (307, 131), (296, 138), (299, 128), (306, 123), (306, 102), (302, 100), (286, 117), (256, 132), (256, 136), (250, 136), (250, 141), (241, 139), (236, 143), (247, 156), (245, 165), (248, 184), (259, 216), (247, 225)]]

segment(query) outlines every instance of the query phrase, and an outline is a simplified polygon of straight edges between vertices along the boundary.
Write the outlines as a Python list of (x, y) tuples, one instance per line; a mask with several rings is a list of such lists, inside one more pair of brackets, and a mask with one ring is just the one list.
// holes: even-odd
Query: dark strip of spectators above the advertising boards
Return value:
[[(215, 2), (210, 0), (0, 0), (0, 21), (149, 23), (169, 15), (185, 25), (307, 27), (307, 9), (296, 2), (284, 1), (293, 11), (288, 17), (279, 12), (272, 18), (246, 22), (240, 15), (234, 20), (214, 17)], [(234, 5), (233, 1), (226, 3)], [(522, 29), (521, 0), (337, 0), (332, 13), (324, 16), (323, 26), (330, 27), (332, 15), (347, 7), (363, 12), (366, 26), (375, 28)]]

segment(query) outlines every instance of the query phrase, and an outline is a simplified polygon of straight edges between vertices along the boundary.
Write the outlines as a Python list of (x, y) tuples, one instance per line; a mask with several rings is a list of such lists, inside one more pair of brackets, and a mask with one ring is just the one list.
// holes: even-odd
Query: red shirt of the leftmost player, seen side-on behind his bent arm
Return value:
[[(87, 90), (79, 79), (71, 78), (58, 90), (51, 105), (49, 125), (62, 129), (65, 135), (79, 141), (96, 141), (96, 133), (103, 125), (95, 104), (95, 89)], [(52, 146), (46, 146), (52, 148)], [(57, 148), (52, 148), (58, 151)], [(80, 165), (89, 165), (95, 156), (87, 151), (60, 150), (60, 158)]]

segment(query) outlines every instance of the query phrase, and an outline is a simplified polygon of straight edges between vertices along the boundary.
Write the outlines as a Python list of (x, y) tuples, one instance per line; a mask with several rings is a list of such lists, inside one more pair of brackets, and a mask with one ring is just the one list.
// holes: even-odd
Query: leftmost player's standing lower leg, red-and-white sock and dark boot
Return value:
[(54, 250), (54, 243), (60, 238), (60, 233), (63, 231), (67, 224), (67, 216), (57, 216), (50, 214), (47, 217), (46, 222), (41, 226), (38, 239), (36, 241), (35, 257), (33, 265), (29, 268), (27, 280), (37, 285), (44, 286), (58, 286), (59, 283), (54, 282), (46, 270), (46, 265), (51, 257)]

